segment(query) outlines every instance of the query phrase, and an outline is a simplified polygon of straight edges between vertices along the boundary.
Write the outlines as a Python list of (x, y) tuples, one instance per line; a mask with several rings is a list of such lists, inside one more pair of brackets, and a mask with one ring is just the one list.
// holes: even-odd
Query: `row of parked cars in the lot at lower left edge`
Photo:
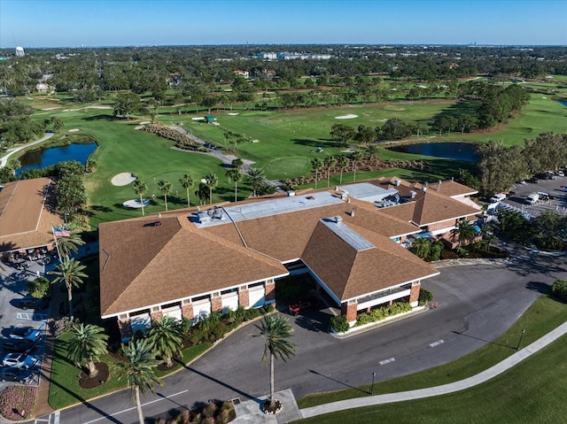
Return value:
[(40, 358), (31, 355), (42, 339), (42, 331), (32, 327), (13, 328), (9, 338), (2, 345), (7, 355), (2, 360), (0, 381), (27, 384), (34, 380), (33, 368), (41, 363)]

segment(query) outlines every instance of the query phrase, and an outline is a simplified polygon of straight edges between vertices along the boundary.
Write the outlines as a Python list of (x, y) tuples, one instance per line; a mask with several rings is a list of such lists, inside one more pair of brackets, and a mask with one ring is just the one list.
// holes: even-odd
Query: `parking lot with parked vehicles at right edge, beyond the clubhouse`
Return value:
[[(537, 218), (541, 212), (547, 210), (565, 215), (567, 214), (567, 191), (563, 191), (562, 186), (567, 186), (567, 177), (540, 180), (538, 183), (516, 183), (510, 189), (509, 196), (501, 204), (508, 204), (519, 211), (529, 213), (532, 218)], [(547, 201), (539, 201), (537, 204), (525, 204), (525, 197), (534, 192), (545, 193), (553, 198)]]

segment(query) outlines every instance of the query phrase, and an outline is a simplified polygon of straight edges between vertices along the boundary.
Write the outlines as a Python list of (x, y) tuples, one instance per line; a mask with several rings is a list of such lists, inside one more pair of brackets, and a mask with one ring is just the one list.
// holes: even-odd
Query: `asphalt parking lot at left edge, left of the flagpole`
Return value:
[[(35, 311), (22, 310), (18, 307), (19, 299), (27, 297), (27, 282), (33, 281), (37, 273), (44, 275), (45, 266), (37, 262), (30, 262), (30, 265), (24, 272), (16, 269), (12, 264), (0, 262), (0, 344), (4, 345), (4, 341), (8, 339), (13, 328), (32, 327), (42, 331), (42, 337), (37, 343), (35, 350), (30, 352), (40, 359), (43, 358), (43, 346), (45, 344), (45, 328), (46, 320), (49, 316), (49, 310)], [(24, 276), (24, 273), (26, 276)], [(4, 359), (7, 352), (4, 349), (0, 352), (0, 359)], [(2, 362), (0, 362), (0, 365)], [(35, 372), (34, 379), (29, 384), (39, 384), (40, 366), (32, 368)], [(0, 391), (5, 386), (13, 384), (12, 382), (0, 382)]]

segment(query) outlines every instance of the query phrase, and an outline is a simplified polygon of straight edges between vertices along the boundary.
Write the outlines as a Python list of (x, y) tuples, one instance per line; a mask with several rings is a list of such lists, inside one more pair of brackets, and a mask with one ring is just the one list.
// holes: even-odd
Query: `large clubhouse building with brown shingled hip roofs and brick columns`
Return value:
[(275, 281), (307, 272), (349, 322), (404, 300), (439, 274), (406, 247), (479, 212), (455, 181), (397, 178), (304, 190), (101, 224), (101, 315), (122, 337), (163, 316), (276, 301)]

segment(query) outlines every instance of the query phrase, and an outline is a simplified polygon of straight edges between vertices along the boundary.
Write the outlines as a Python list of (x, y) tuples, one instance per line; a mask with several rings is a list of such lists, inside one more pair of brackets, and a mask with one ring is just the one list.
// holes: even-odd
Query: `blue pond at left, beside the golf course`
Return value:
[(18, 160), (21, 167), (16, 169), (16, 175), (28, 169), (40, 169), (55, 165), (66, 160), (77, 160), (85, 165), (90, 154), (97, 149), (97, 143), (67, 144), (61, 147), (27, 151)]

